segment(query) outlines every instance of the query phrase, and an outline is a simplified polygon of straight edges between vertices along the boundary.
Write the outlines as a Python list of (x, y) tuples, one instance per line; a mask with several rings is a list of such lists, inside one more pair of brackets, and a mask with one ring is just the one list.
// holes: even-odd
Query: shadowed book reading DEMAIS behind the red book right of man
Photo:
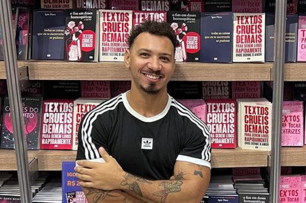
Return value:
[(230, 98), (230, 83), (217, 82), (202, 82), (203, 99), (229, 99)]

